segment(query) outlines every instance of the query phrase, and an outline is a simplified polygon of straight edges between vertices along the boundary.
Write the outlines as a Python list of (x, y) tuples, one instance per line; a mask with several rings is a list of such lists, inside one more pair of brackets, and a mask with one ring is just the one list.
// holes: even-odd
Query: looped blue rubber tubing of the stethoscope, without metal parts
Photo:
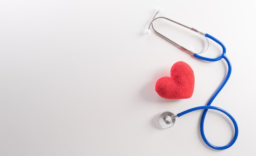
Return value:
[[(226, 57), (225, 53), (226, 53), (226, 48), (225, 48), (225, 45), (222, 44), (222, 42), (220, 42), (219, 40), (217, 40), (215, 37), (209, 35), (209, 34), (205, 34), (205, 37), (208, 37), (210, 38), (211, 40), (215, 41), (216, 43), (220, 44), (220, 46), (222, 47), (223, 51), (222, 51), (222, 54), (219, 56), (219, 57), (216, 57), (216, 58), (207, 58), (207, 57), (202, 57), (198, 54), (194, 54), (193, 56), (198, 58), (198, 59), (202, 59), (202, 60), (205, 60), (205, 61), (211, 61), (211, 62), (214, 62), (214, 61), (218, 61), (220, 59), (225, 59), (225, 61), (227, 62), (227, 65), (228, 65), (228, 71), (227, 71), (227, 75), (225, 77), (225, 79), (222, 81), (222, 83), (220, 84), (220, 86), (218, 87), (218, 89), (213, 93), (213, 95), (211, 96), (211, 98), (209, 99), (209, 101), (207, 102), (206, 105), (204, 106), (199, 106), (199, 107), (195, 107), (195, 108), (191, 108), (189, 110), (185, 110), (184, 112), (181, 112), (179, 114), (177, 114), (177, 117), (180, 117), (184, 114), (187, 114), (189, 112), (193, 112), (195, 110), (204, 110), (203, 113), (202, 113), (202, 116), (201, 116), (201, 121), (200, 121), (200, 132), (201, 132), (201, 136), (202, 136), (202, 139), (204, 140), (204, 142), (211, 148), (213, 149), (218, 149), (218, 150), (222, 150), (222, 149), (227, 149), (229, 147), (231, 147), (235, 142), (236, 142), (236, 139), (238, 137), (238, 125), (236, 123), (236, 120), (234, 119), (234, 117), (229, 114), (229, 112), (227, 112), (226, 110), (223, 110), (222, 108), (218, 108), (218, 107), (215, 107), (215, 106), (211, 106), (211, 103), (213, 102), (213, 100), (215, 99), (215, 97), (218, 95), (218, 93), (220, 92), (220, 90), (222, 90), (222, 88), (225, 86), (225, 84), (227, 83), (227, 80), (229, 79), (230, 75), (231, 75), (231, 63), (229, 61), (229, 59)], [(204, 135), (204, 120), (205, 120), (205, 116), (207, 114), (207, 111), (209, 109), (213, 109), (213, 110), (218, 110), (224, 114), (226, 114), (229, 119), (231, 119), (231, 121), (233, 122), (234, 124), (234, 127), (235, 127), (235, 134), (234, 134), (234, 137), (233, 139), (231, 140), (230, 143), (228, 143), (227, 145), (225, 146), (215, 146), (215, 145), (212, 145), (211, 143), (209, 143), (209, 141), (207, 140), (207, 138), (205, 137)]]

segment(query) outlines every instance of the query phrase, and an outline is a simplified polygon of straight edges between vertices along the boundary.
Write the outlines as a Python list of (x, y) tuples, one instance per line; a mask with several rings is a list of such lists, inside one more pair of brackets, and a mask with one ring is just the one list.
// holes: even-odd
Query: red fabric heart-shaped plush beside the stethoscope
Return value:
[(185, 62), (176, 62), (171, 68), (171, 77), (162, 77), (155, 84), (155, 91), (165, 99), (188, 99), (192, 96), (195, 77), (192, 68)]

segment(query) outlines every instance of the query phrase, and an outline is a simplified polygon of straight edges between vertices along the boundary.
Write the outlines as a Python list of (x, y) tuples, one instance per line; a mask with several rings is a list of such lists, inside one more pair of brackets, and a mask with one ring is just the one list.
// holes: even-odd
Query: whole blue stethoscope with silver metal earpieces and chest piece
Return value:
[[(157, 13), (159, 13), (159, 9), (157, 10)], [(209, 99), (209, 101), (207, 102), (206, 105), (203, 105), (203, 106), (199, 106), (199, 107), (195, 107), (195, 108), (191, 108), (189, 110), (185, 110), (183, 112), (180, 112), (178, 114), (174, 114), (172, 112), (169, 112), (169, 111), (165, 111), (165, 112), (162, 112), (159, 116), (158, 116), (158, 122), (160, 124), (161, 127), (163, 128), (169, 128), (169, 127), (172, 127), (176, 121), (176, 118), (177, 117), (180, 117), (180, 116), (183, 116), (189, 112), (193, 112), (195, 110), (204, 110), (203, 113), (202, 113), (202, 116), (201, 116), (201, 121), (200, 121), (200, 132), (201, 132), (201, 136), (202, 136), (202, 139), (204, 140), (204, 142), (211, 148), (213, 149), (218, 149), (218, 150), (221, 150), (221, 149), (227, 149), (229, 147), (231, 147), (235, 142), (236, 142), (236, 139), (238, 137), (238, 125), (236, 123), (236, 120), (234, 119), (234, 117), (229, 114), (229, 112), (227, 112), (226, 110), (223, 110), (222, 108), (218, 108), (218, 107), (215, 107), (215, 106), (211, 106), (211, 103), (213, 102), (213, 100), (216, 98), (216, 96), (218, 95), (218, 93), (220, 92), (220, 90), (222, 90), (222, 88), (225, 86), (225, 84), (227, 83), (229, 77), (230, 77), (230, 74), (231, 74), (231, 63), (229, 61), (229, 59), (227, 58), (227, 56), (225, 55), (226, 54), (226, 48), (224, 46), (224, 44), (222, 44), (222, 42), (220, 42), (219, 40), (217, 40), (215, 37), (207, 34), (207, 33), (202, 33), (200, 31), (198, 31), (197, 29), (194, 29), (194, 28), (191, 28), (189, 26), (185, 26), (183, 24), (180, 24), (179, 22), (176, 22), (174, 20), (171, 20), (169, 18), (165, 18), (165, 17), (157, 17), (156, 18), (156, 15), (157, 13), (154, 15), (153, 17), (153, 20), (150, 22), (149, 26), (148, 26), (148, 29), (146, 31), (146, 34), (149, 33), (149, 30), (150, 30), (150, 26), (152, 26), (153, 30), (160, 36), (164, 37), (164, 39), (170, 41), (171, 43), (173, 43), (174, 45), (176, 45), (177, 47), (181, 48), (183, 51), (186, 51), (188, 53), (190, 53), (191, 55), (193, 55), (193, 57), (195, 58), (198, 58), (198, 59), (202, 59), (202, 60), (205, 60), (205, 61), (211, 61), (211, 62), (214, 62), (214, 61), (219, 61), (220, 59), (225, 59), (225, 61), (227, 62), (227, 65), (228, 65), (228, 70), (227, 70), (227, 75), (225, 77), (225, 79), (222, 81), (222, 83), (220, 84), (220, 86), (218, 87), (218, 89), (213, 93), (213, 95), (211, 96), (211, 98)], [(168, 20), (168, 21), (171, 21), (171, 22), (174, 22), (180, 26), (184, 26), (185, 28), (188, 28), (188, 29), (191, 29), (192, 31), (195, 31), (197, 33), (199, 33), (200, 35), (209, 38), (213, 41), (215, 41), (216, 43), (218, 43), (221, 47), (222, 47), (222, 54), (220, 54), (218, 57), (216, 58), (208, 58), (208, 57), (202, 57), (200, 55), (198, 55), (197, 53), (194, 53), (193, 51), (190, 51), (188, 50), (187, 48), (183, 47), (183, 46), (180, 46), (179, 44), (175, 43), (173, 40), (170, 40), (168, 37), (162, 35), (161, 33), (157, 32), (153, 26), (153, 22), (157, 19), (165, 19), (165, 20)], [(209, 41), (207, 39), (207, 42), (208, 42), (208, 46), (209, 46)], [(208, 49), (208, 47), (207, 47)], [(205, 51), (207, 51), (207, 49)], [(205, 137), (204, 135), (204, 119), (205, 119), (205, 116), (207, 114), (207, 110), (209, 109), (212, 109), (212, 110), (218, 110), (224, 114), (226, 114), (229, 119), (231, 119), (231, 121), (233, 122), (234, 124), (234, 127), (235, 127), (235, 133), (234, 133), (234, 137), (232, 138), (232, 140), (225, 146), (215, 146), (211, 143), (209, 143), (209, 141), (207, 140), (207, 138)]]

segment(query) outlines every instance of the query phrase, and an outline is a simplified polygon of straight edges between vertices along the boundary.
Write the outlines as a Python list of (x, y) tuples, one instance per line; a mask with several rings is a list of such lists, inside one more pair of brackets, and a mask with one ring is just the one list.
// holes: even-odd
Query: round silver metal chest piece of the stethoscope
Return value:
[(170, 128), (174, 125), (174, 123), (176, 121), (175, 118), (176, 118), (175, 114), (173, 114), (172, 112), (169, 112), (169, 111), (165, 111), (165, 112), (162, 112), (158, 116), (158, 122), (161, 127)]

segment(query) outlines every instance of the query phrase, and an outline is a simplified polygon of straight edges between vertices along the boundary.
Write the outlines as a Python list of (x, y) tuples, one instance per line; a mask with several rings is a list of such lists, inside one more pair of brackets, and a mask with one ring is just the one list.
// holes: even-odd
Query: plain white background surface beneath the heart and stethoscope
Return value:
[[(227, 85), (212, 105), (230, 112), (239, 135), (229, 149), (204, 144), (191, 112), (162, 130), (160, 112), (205, 105), (227, 72), (225, 61), (195, 59), (150, 32), (157, 7), (165, 16), (222, 41), (231, 60)], [(254, 0), (1, 0), (1, 156), (255, 155)], [(192, 51), (205, 39), (159, 20), (156, 29)], [(202, 54), (216, 57), (210, 42)], [(155, 82), (184, 61), (195, 74), (189, 99), (166, 100)], [(226, 145), (234, 127), (209, 111), (205, 134)]]

